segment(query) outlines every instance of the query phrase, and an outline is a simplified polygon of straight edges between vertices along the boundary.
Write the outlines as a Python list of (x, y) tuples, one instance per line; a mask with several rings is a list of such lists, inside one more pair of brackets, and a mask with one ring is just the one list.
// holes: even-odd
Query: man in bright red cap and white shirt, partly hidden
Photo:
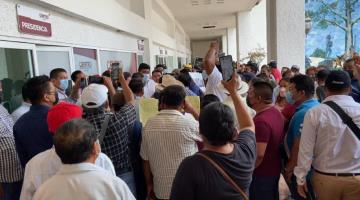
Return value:
[[(65, 102), (59, 103), (52, 107), (48, 112), (47, 122), (49, 131), (55, 133), (66, 121), (81, 118), (81, 116), (82, 110), (80, 107)], [(114, 166), (110, 158), (105, 154), (99, 154), (95, 165), (115, 176)], [(31, 200), (40, 185), (54, 176), (61, 166), (61, 160), (56, 154), (54, 147), (33, 157), (25, 167), (25, 176), (20, 199)]]

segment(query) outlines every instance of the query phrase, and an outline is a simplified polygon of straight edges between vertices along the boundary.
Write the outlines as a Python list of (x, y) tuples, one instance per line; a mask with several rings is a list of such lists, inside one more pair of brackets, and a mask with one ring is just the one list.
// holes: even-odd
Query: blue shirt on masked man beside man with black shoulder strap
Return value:
[(296, 112), (294, 114), (294, 116), (291, 118), (290, 124), (289, 124), (289, 129), (287, 132), (287, 136), (286, 136), (286, 143), (289, 147), (289, 150), (291, 151), (292, 145), (294, 143), (294, 140), (296, 138), (300, 138), (301, 136), (301, 129), (303, 126), (303, 122), (304, 122), (304, 117), (306, 112), (314, 107), (319, 105), (319, 101), (317, 99), (309, 99), (304, 101), (302, 104), (300, 104), (297, 108), (296, 108)]

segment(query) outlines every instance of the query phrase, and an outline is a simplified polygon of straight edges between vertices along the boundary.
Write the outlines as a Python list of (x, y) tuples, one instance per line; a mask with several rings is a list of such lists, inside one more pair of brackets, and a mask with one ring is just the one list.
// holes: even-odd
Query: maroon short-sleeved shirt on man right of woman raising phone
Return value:
[(267, 143), (261, 164), (253, 176), (279, 176), (281, 171), (280, 144), (284, 140), (284, 119), (275, 107), (254, 117), (256, 142)]

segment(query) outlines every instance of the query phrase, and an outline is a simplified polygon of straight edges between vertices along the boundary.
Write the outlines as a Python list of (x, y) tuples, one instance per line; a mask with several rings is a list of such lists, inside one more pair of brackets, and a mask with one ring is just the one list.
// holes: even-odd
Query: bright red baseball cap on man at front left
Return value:
[(47, 124), (50, 133), (54, 134), (56, 130), (65, 122), (75, 118), (82, 117), (82, 109), (71, 103), (61, 102), (48, 111)]

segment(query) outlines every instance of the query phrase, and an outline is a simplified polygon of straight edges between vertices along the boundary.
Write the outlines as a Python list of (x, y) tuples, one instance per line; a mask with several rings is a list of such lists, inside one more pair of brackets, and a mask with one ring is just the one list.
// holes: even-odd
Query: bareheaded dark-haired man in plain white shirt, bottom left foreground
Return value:
[(135, 199), (120, 178), (95, 165), (100, 144), (89, 122), (66, 122), (54, 135), (54, 145), (63, 166), (40, 186), (34, 200)]

